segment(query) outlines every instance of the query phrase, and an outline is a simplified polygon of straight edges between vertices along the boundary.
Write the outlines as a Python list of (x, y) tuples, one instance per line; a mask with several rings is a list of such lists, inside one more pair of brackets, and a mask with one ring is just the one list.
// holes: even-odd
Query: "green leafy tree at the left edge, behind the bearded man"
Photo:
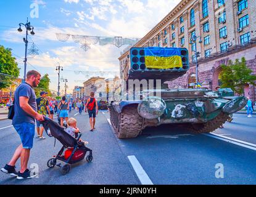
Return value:
[(15, 62), (15, 57), (12, 57), (11, 51), (12, 49), (0, 46), (0, 89), (9, 87), (20, 75), (20, 68)]

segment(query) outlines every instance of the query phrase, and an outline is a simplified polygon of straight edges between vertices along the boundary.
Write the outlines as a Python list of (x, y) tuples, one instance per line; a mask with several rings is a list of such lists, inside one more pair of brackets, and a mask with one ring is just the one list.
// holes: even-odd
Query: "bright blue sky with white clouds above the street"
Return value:
[[(23, 78), (25, 31), (19, 33), (17, 28), (19, 23), (26, 23), (28, 17), (35, 27), (35, 35), (28, 36), (28, 49), (34, 42), (39, 55), (28, 58), (27, 70), (49, 74), (50, 89), (57, 90), (55, 69), (60, 63), (64, 66), (60, 77), (68, 79), (68, 92), (72, 92), (75, 85), (83, 85), (88, 71), (111, 71), (112, 75), (104, 77), (114, 77), (119, 72), (120, 52), (127, 46), (96, 44), (90, 45), (91, 49), (85, 52), (72, 38), (60, 42), (56, 33), (142, 38), (178, 2), (180, 0), (1, 0), (0, 45), (12, 49), (21, 68), (20, 78)], [(64, 82), (60, 86), (64, 89)]]

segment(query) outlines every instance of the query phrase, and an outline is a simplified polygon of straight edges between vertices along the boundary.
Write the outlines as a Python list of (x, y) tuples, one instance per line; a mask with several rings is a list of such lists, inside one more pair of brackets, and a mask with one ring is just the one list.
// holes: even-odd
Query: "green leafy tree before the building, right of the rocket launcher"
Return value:
[(246, 84), (255, 85), (256, 76), (246, 66), (246, 58), (242, 57), (241, 62), (236, 59), (234, 63), (229, 60), (228, 65), (221, 65), (221, 68), (221, 87), (230, 87), (237, 94), (243, 95)]

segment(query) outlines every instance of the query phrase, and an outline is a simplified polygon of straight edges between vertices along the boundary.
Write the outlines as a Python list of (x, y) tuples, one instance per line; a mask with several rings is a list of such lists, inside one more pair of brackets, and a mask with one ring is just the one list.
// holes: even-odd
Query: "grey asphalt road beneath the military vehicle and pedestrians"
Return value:
[[(146, 183), (174, 185), (256, 183), (256, 148), (208, 135), (194, 135), (184, 127), (170, 125), (147, 128), (136, 139), (119, 140), (107, 121), (109, 114), (106, 110), (97, 116), (95, 132), (89, 132), (88, 115), (76, 113), (72, 112), (70, 116), (78, 120), (78, 127), (83, 131), (82, 139), (87, 140), (88, 147), (93, 150), (92, 163), (81, 161), (63, 176), (58, 167), (48, 169), (46, 166), (47, 160), (59, 151), (60, 143), (54, 147), (52, 138), (35, 139), (29, 166), (33, 163), (39, 166), (38, 179), (16, 180), (1, 173), (0, 184), (140, 185), (145, 180)], [(0, 121), (0, 129), (10, 124), (9, 120)], [(255, 127), (255, 118), (236, 114), (234, 123), (226, 123), (224, 129), (214, 133), (256, 143)], [(13, 127), (0, 130), (0, 144), (0, 166), (3, 167), (20, 144)], [(17, 163), (17, 169), (19, 167)], [(218, 175), (221, 178), (217, 178)]]

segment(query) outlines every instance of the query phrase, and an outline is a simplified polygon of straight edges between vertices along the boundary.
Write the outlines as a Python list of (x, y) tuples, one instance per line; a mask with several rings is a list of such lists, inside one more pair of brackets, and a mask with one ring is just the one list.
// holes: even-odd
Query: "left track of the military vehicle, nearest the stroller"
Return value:
[(134, 138), (141, 134), (143, 118), (138, 114), (138, 105), (125, 107), (122, 113), (117, 113), (114, 107), (110, 107), (110, 121), (114, 127), (118, 139)]

